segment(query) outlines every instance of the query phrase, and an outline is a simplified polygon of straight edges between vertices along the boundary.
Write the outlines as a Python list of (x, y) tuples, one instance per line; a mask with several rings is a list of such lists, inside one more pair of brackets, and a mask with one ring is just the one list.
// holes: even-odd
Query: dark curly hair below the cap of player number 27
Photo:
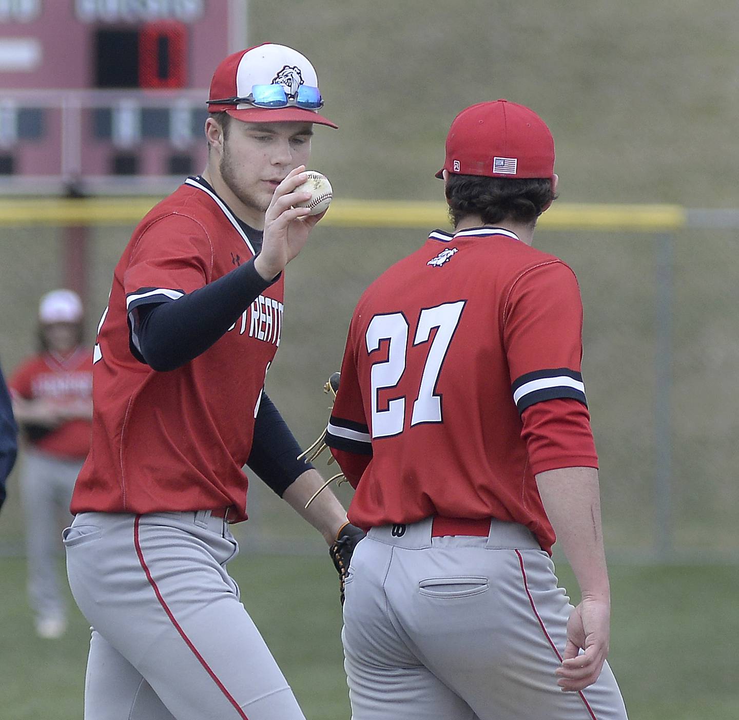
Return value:
[(449, 174), (446, 181), (449, 219), (457, 227), (468, 215), (477, 215), (483, 225), (503, 220), (534, 223), (546, 206), (556, 200), (548, 177), (480, 177)]

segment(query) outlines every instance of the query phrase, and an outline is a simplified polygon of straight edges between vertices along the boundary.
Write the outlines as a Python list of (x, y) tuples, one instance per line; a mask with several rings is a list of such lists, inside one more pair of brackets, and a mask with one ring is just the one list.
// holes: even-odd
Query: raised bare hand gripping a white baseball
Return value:
[[(276, 187), (265, 212), (262, 251), (254, 260), (254, 268), (265, 280), (279, 275), (303, 249), (331, 202), (330, 187), (324, 175), (306, 171), (304, 165), (290, 171)], [(326, 197), (327, 188), (331, 197)]]

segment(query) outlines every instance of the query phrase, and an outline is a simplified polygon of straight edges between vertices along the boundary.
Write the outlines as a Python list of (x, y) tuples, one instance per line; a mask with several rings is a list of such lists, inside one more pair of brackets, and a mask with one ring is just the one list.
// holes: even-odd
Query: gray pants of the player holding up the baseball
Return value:
[(222, 518), (84, 512), (64, 545), (92, 625), (85, 720), (304, 720), (225, 570)]

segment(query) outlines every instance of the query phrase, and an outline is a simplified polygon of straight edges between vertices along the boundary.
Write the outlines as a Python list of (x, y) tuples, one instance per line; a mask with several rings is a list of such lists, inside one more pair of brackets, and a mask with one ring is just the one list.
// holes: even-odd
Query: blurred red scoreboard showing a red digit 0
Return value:
[(205, 164), (247, 0), (0, 0), (0, 191), (166, 191)]

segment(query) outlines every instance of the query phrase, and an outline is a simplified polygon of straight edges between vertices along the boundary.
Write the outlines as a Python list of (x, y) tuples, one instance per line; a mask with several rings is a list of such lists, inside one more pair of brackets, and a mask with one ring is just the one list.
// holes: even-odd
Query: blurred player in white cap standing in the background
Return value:
[(10, 378), (13, 410), (25, 438), (21, 497), (26, 514), (28, 591), (36, 632), (58, 638), (67, 613), (57, 574), (62, 515), (87, 455), (92, 419), (92, 350), (82, 346), (83, 307), (77, 293), (41, 298), (39, 352)]

